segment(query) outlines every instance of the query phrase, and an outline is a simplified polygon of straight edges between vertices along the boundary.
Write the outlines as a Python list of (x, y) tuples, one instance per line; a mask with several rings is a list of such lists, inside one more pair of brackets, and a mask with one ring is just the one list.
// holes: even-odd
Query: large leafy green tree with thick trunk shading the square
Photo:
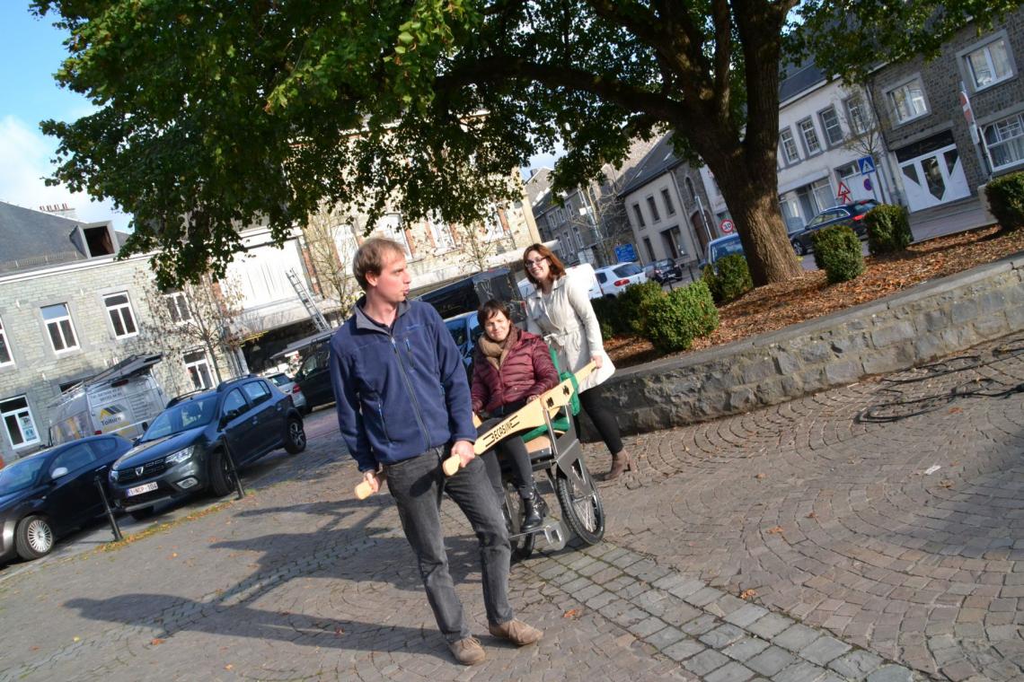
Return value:
[[(284, 240), (328, 199), (368, 228), (484, 219), (509, 171), (562, 140), (555, 191), (600, 175), (636, 136), (672, 128), (736, 221), (757, 284), (796, 276), (776, 195), (778, 73), (798, 0), (34, 0), (71, 32), (57, 73), (98, 106), (59, 138), (55, 180), (134, 215), (161, 282), (223, 272), (260, 219)], [(807, 0), (907, 48), (1013, 0)], [(897, 7), (898, 6), (898, 7)], [(944, 9), (943, 9), (944, 8)], [(845, 16), (845, 15), (844, 15)], [(823, 18), (822, 18), (823, 17)], [(961, 20), (956, 20), (959, 18)], [(934, 32), (933, 32), (934, 33)], [(919, 35), (920, 34), (920, 35)], [(941, 37), (941, 35), (938, 35)], [(931, 38), (929, 38), (931, 40)], [(843, 45), (847, 43), (844, 42)], [(877, 41), (870, 44), (883, 44)], [(797, 43), (821, 54), (830, 45)], [(857, 63), (880, 53), (861, 50)], [(821, 63), (838, 74), (850, 69)]]

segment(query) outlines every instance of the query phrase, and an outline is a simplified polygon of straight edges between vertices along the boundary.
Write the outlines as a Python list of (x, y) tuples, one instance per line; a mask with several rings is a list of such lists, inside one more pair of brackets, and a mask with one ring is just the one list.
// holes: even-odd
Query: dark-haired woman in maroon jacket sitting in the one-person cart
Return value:
[[(484, 434), (526, 401), (537, 400), (545, 391), (555, 388), (558, 372), (544, 339), (512, 324), (504, 303), (488, 301), (476, 316), (483, 334), (473, 352), (471, 393), (473, 412), (484, 420), (477, 433)], [(522, 532), (537, 530), (548, 513), (548, 505), (534, 483), (526, 444), (521, 438), (510, 436), (482, 455), (490, 485), (504, 506), (502, 470), (496, 452), (510, 463), (512, 482), (522, 498), (525, 511)]]

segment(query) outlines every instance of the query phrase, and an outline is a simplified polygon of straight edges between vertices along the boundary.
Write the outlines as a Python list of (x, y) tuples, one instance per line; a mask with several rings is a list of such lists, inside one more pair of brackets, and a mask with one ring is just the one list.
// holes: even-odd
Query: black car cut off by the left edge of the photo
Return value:
[(95, 478), (131, 449), (120, 436), (91, 436), (0, 469), (0, 561), (35, 559), (56, 538), (104, 513)]

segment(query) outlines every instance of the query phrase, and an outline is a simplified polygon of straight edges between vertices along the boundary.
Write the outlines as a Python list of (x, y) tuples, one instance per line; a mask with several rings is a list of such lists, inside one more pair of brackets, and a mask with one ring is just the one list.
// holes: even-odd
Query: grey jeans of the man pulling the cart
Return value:
[(487, 622), (507, 623), (513, 618), (508, 600), (509, 547), (508, 530), (498, 500), (479, 458), (446, 478), (441, 462), (447, 448), (431, 448), (427, 452), (384, 467), (388, 490), (398, 507), (401, 528), (419, 561), (420, 577), (427, 589), (427, 599), (437, 619), (444, 639), (455, 642), (470, 636), (455, 592), (444, 552), (441, 530), (441, 493), (447, 492), (466, 518), (480, 543), (480, 563), (483, 571), (483, 603)]

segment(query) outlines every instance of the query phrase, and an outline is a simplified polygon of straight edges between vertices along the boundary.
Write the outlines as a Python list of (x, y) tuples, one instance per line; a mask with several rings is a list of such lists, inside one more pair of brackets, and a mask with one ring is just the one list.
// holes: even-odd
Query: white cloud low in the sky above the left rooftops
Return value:
[(118, 213), (109, 201), (93, 201), (88, 194), (72, 193), (63, 185), (47, 187), (44, 177), (52, 175), (50, 160), (56, 140), (43, 135), (13, 116), (0, 119), (0, 200), (26, 209), (67, 203), (85, 222), (111, 220), (124, 230), (129, 216)]

